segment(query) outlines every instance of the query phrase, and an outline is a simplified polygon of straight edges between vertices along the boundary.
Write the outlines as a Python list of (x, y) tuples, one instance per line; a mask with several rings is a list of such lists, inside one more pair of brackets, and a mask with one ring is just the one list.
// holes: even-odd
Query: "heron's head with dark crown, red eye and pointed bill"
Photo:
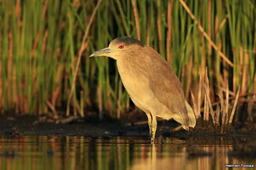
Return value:
[(119, 37), (113, 39), (110, 42), (109, 47), (92, 53), (90, 57), (107, 56), (114, 59), (119, 59), (120, 57), (125, 56), (127, 52), (131, 53), (132, 50), (136, 50), (137, 48), (143, 46), (144, 45), (135, 38)]

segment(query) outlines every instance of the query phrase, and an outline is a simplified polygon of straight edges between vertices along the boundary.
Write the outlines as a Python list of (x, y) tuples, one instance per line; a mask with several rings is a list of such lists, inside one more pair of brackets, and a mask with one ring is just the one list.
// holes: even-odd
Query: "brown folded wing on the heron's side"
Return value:
[[(144, 47), (145, 48), (145, 47)], [(174, 114), (179, 114), (186, 128), (189, 126), (188, 111), (180, 81), (159, 53), (150, 47), (144, 50), (149, 64), (149, 85), (154, 96)]]

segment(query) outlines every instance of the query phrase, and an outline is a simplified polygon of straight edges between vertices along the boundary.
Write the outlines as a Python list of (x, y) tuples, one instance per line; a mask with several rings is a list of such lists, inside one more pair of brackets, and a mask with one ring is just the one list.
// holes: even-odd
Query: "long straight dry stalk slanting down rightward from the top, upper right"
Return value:
[(195, 19), (194, 14), (190, 11), (189, 7), (186, 5), (186, 3), (183, 0), (179, 0), (182, 6), (186, 9), (186, 12), (188, 12), (189, 16), (195, 21), (196, 24), (198, 24), (199, 31), (203, 33), (204, 37), (209, 41), (211, 46), (215, 49), (216, 52), (218, 52), (221, 56), (221, 58), (224, 59), (225, 62), (229, 64), (229, 66), (234, 67), (234, 64), (228, 59), (225, 54), (223, 54), (220, 49), (216, 46), (216, 44), (211, 40), (211, 38), (208, 36), (208, 34), (204, 31), (204, 28), (201, 26), (201, 24)]

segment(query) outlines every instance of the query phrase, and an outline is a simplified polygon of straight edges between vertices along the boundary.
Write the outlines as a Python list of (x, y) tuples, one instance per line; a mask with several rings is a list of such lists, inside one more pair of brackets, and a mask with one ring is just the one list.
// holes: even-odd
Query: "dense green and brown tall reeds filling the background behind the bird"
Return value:
[(119, 118), (130, 111), (133, 105), (115, 63), (105, 57), (88, 59), (120, 36), (141, 39), (155, 48), (177, 73), (186, 98), (190, 89), (198, 92), (200, 74), (201, 79), (208, 74), (212, 100), (227, 85), (230, 94), (241, 85), (240, 102), (255, 101), (250, 95), (256, 93), (255, 1), (185, 1), (191, 13), (181, 2), (102, 1), (81, 44), (97, 1), (0, 1), (1, 112), (64, 110), (81, 46), (71, 114), (86, 116), (95, 106), (100, 117), (105, 112)]

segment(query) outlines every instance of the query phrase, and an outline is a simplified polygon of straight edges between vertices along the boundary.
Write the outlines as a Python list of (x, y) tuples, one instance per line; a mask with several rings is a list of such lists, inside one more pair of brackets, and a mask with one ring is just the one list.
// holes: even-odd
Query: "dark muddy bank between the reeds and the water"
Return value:
[[(49, 116), (0, 116), (0, 136), (20, 135), (57, 135), (57, 136), (145, 136), (149, 137), (149, 127), (146, 118), (141, 123), (130, 123), (129, 118), (116, 121), (104, 119), (94, 121), (93, 118), (77, 117), (53, 118)], [(124, 121), (126, 120), (126, 121)], [(137, 120), (136, 120), (137, 121)], [(189, 132), (183, 129), (173, 131), (179, 124), (175, 121), (158, 121), (156, 136), (181, 137), (188, 136), (255, 136), (256, 124), (237, 123), (233, 126), (213, 126), (211, 122), (198, 121)]]

